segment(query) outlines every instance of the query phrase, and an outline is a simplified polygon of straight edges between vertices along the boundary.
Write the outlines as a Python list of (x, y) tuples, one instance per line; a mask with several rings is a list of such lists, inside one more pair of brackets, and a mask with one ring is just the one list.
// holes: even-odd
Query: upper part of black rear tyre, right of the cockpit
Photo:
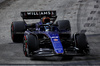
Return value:
[(68, 30), (71, 31), (69, 20), (59, 20), (56, 22), (59, 30)]

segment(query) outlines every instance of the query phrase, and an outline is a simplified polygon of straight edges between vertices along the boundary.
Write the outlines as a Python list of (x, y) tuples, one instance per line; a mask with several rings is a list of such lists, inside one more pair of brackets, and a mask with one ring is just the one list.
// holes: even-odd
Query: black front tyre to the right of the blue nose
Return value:
[(77, 34), (75, 36), (76, 39), (76, 47), (79, 48), (78, 53), (89, 54), (89, 44), (86, 39), (85, 34)]

